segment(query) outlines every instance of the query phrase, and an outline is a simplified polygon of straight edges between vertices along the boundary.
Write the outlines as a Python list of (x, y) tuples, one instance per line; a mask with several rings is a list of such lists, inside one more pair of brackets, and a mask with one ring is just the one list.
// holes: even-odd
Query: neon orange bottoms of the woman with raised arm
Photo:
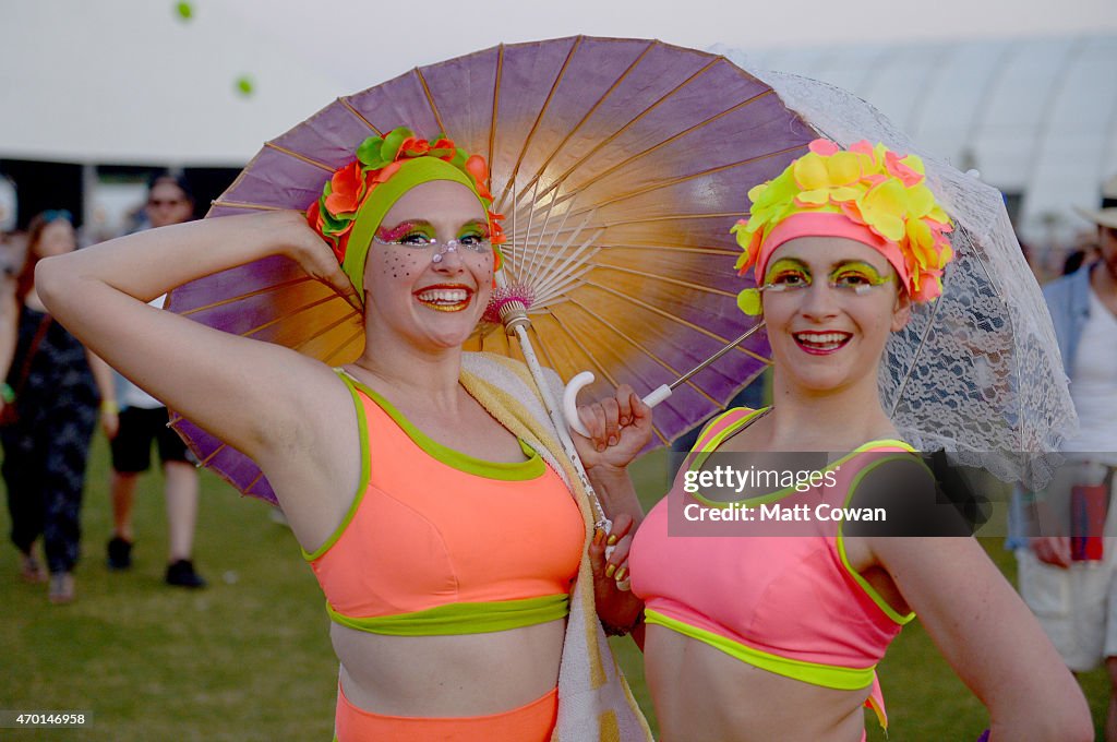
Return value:
[(335, 742), (547, 742), (558, 716), (558, 688), (486, 716), (385, 716), (357, 708), (337, 684)]

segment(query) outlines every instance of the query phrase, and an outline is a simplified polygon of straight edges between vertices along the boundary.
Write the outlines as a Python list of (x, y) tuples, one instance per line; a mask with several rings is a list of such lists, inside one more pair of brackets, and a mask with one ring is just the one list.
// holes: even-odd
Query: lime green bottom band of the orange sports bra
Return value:
[(366, 618), (338, 613), (327, 601), (326, 612), (336, 624), (370, 634), (388, 636), (487, 634), (565, 618), (570, 613), (570, 596), (562, 593), (522, 600), (448, 603), (411, 613)]

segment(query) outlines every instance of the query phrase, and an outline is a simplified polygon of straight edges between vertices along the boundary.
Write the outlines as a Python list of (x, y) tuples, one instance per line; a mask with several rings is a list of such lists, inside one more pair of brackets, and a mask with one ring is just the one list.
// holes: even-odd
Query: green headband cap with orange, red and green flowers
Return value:
[(417, 139), (411, 130), (400, 126), (385, 136), (370, 136), (362, 142), (356, 160), (334, 171), (322, 197), (306, 210), (311, 229), (330, 244), (357, 291), (364, 283), (373, 234), (384, 215), (401, 196), (432, 180), (461, 183), (477, 196), (488, 217), (494, 268), (500, 269), (497, 246), (505, 241), (499, 223), (504, 217), (491, 211), (485, 158), (468, 154), (446, 137), (433, 143)]

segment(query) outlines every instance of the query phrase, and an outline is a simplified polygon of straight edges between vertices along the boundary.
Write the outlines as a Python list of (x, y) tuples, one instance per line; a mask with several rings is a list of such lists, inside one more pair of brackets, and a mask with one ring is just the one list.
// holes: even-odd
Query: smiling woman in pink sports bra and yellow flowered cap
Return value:
[[(956, 511), (936, 502), (878, 396), (889, 334), (935, 299), (952, 257), (922, 162), (818, 140), (748, 198), (737, 267), (758, 288), (738, 304), (764, 315), (773, 405), (712, 421), (605, 568), (631, 580), (634, 598), (608, 620), (642, 643), (662, 741), (863, 740), (862, 705), (886, 723), (877, 663), (915, 615), (987, 707), (992, 740), (1092, 739), (1078, 686), (1015, 591), (976, 540), (942, 535), (958, 533)], [(604, 428), (591, 428), (599, 446)], [(641, 434), (613, 436), (631, 446)], [(796, 475), (726, 495), (718, 467)], [(844, 512), (891, 515), (892, 530)]]

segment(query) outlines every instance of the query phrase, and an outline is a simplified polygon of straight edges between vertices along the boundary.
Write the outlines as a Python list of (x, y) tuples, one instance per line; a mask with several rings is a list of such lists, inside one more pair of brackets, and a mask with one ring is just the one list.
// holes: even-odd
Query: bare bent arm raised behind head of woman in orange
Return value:
[(266, 458), (321, 415), (324, 400), (308, 390), (330, 370), (146, 302), (269, 255), (297, 260), (356, 301), (330, 248), (293, 211), (175, 225), (47, 258), (36, 288), (51, 314), (112, 367), (249, 456)]

